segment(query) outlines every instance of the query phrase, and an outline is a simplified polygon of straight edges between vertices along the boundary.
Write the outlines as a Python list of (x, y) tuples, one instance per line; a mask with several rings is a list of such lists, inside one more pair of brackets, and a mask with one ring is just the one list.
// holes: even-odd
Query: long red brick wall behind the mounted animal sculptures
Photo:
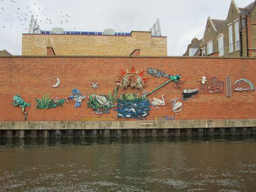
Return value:
[[(86, 96), (91, 93), (108, 94), (121, 77), (120, 69), (130, 71), (145, 70), (143, 77), (145, 89), (152, 91), (163, 84), (166, 78), (156, 78), (147, 74), (149, 67), (160, 69), (165, 73), (181, 74), (181, 80), (186, 83), (182, 89), (199, 88), (198, 79), (202, 76), (215, 75), (219, 80), (226, 76), (232, 77), (232, 88), (235, 80), (247, 78), (256, 85), (256, 59), (224, 59), (224, 58), (107, 58), (107, 57), (0, 57), (0, 121), (23, 121), (21, 107), (12, 105), (12, 96), (20, 94), (21, 98), (31, 102), (26, 107), (27, 121), (80, 121), (81, 117), (114, 117), (117, 112), (96, 115), (87, 108), (87, 99), (82, 106), (74, 108), (74, 101), (64, 103), (63, 107), (48, 110), (36, 109), (36, 98), (42, 98), (44, 93), (51, 97), (64, 98), (71, 95), (73, 88), (78, 88)], [(59, 77), (60, 85), (53, 88), (50, 85), (52, 77)], [(95, 91), (91, 82), (99, 82)], [(135, 89), (119, 90), (118, 95), (126, 91), (138, 92)], [(160, 109), (150, 110), (147, 120), (154, 116), (175, 117), (176, 120), (187, 119), (256, 119), (256, 91), (232, 92), (230, 98), (225, 91), (215, 94), (196, 95), (190, 101), (181, 101), (182, 90), (173, 88), (173, 83), (165, 85), (149, 96), (161, 98), (165, 95), (166, 105)], [(171, 99), (179, 96), (183, 110), (177, 115), (171, 110)], [(127, 120), (119, 118), (118, 120)], [(132, 121), (133, 119), (128, 119)]]

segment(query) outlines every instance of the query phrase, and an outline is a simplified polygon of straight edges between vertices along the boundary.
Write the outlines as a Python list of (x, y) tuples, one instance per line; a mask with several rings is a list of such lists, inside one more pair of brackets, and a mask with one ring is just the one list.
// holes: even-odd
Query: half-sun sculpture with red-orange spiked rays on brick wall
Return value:
[(136, 89), (143, 89), (144, 81), (149, 79), (142, 78), (144, 70), (139, 73), (139, 70), (135, 71), (134, 67), (131, 72), (129, 72), (128, 69), (126, 69), (126, 72), (121, 69), (121, 72), (123, 76), (119, 82), (119, 87), (123, 89), (127, 88), (128, 86), (131, 88), (134, 87)]

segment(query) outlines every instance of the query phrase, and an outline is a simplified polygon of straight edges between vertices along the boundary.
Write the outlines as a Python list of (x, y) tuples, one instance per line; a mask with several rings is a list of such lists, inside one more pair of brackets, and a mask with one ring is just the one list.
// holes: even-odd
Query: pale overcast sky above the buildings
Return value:
[[(169, 56), (180, 56), (203, 37), (207, 17), (226, 19), (231, 0), (0, 0), (0, 50), (21, 55), (31, 15), (41, 29), (149, 31), (158, 18)], [(253, 0), (235, 0), (245, 7)], [(25, 21), (26, 20), (26, 21)], [(49, 21), (51, 20), (51, 21)], [(61, 22), (62, 21), (62, 22)], [(27, 29), (26, 29), (27, 28)], [(74, 29), (75, 28), (75, 29)]]

